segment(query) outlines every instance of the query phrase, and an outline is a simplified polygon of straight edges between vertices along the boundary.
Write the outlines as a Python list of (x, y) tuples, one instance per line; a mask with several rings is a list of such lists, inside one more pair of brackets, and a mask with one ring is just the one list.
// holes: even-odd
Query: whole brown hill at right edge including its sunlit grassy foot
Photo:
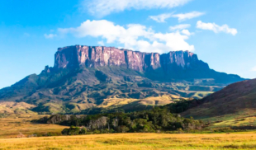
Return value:
[(182, 115), (208, 120), (218, 127), (256, 125), (256, 79), (231, 84), (202, 101)]

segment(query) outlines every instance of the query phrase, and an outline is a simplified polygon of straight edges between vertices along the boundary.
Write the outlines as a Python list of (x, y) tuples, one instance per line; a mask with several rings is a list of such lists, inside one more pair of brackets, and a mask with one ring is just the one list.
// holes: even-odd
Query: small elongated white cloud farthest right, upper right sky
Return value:
[(219, 26), (215, 23), (204, 23), (202, 21), (197, 21), (197, 28), (202, 30), (212, 30), (215, 33), (225, 32), (231, 35), (237, 34), (237, 30), (235, 28), (230, 28), (227, 25)]

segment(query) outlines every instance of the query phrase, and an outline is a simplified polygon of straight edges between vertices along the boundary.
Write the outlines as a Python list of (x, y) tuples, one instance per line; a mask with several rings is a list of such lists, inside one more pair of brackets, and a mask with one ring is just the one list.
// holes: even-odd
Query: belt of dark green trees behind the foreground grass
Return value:
[[(184, 119), (180, 115), (170, 113), (168, 109), (159, 107), (132, 113), (110, 113), (102, 115), (87, 115), (81, 117), (71, 115), (70, 120), (59, 124), (70, 125), (62, 134), (106, 134), (141, 132), (154, 133), (159, 131), (198, 130), (203, 126), (202, 121)], [(52, 117), (51, 117), (52, 118)], [(48, 121), (49, 122), (49, 121)], [(77, 126), (77, 127), (75, 127)], [(81, 127), (81, 128), (78, 128)]]

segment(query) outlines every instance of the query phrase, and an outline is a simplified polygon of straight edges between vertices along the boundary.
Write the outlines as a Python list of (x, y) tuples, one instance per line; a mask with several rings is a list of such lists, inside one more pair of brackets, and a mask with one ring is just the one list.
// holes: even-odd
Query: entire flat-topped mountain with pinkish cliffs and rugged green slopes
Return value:
[(188, 51), (157, 54), (74, 45), (58, 49), (54, 67), (0, 90), (0, 101), (26, 102), (50, 112), (135, 110), (182, 97), (202, 98), (242, 80), (212, 70)]

